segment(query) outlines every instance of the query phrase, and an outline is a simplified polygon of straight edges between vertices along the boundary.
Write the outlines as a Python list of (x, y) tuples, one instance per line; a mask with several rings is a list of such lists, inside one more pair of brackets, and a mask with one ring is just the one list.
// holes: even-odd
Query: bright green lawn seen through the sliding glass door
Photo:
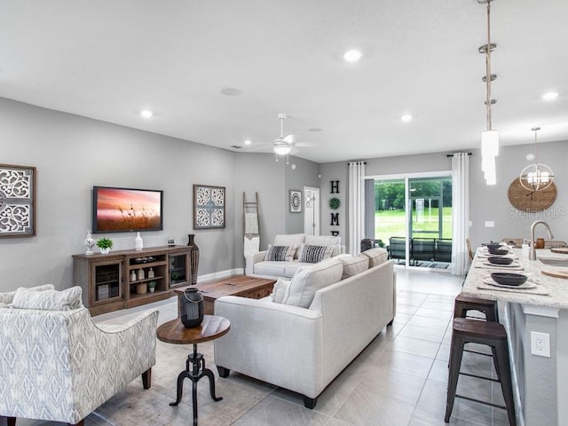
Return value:
[[(413, 212), (413, 217), (416, 215)], [(413, 224), (413, 229), (424, 231), (438, 231), (438, 208), (426, 209), (424, 220), (420, 224)], [(404, 210), (375, 211), (375, 240), (383, 240), (389, 244), (390, 237), (404, 237), (406, 235)], [(438, 233), (414, 233), (414, 238), (439, 238)], [(442, 210), (442, 238), (452, 238), (452, 208)]]

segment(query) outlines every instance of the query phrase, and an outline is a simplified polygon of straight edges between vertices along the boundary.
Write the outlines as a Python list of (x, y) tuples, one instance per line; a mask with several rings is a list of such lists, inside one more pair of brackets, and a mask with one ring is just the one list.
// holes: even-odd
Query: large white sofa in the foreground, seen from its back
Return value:
[(234, 370), (296, 391), (313, 408), (395, 317), (396, 277), (386, 257), (372, 248), (331, 258), (304, 266), (289, 282), (280, 278), (272, 296), (217, 299), (215, 314), (231, 321), (231, 332), (215, 341), (219, 375)]

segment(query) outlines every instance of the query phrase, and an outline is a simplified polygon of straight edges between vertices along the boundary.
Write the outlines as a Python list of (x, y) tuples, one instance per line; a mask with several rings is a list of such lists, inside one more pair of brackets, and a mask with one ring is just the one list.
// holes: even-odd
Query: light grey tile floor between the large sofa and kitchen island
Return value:
[[(444, 425), (446, 382), (454, 297), (461, 277), (447, 272), (409, 271), (397, 267), (397, 316), (392, 327), (378, 335), (319, 396), (314, 410), (288, 390), (267, 388), (266, 396), (241, 415), (235, 426), (418, 426)], [(161, 307), (161, 322), (169, 320), (175, 304)], [(175, 309), (175, 308), (174, 308)], [(96, 317), (106, 319), (105, 316)], [(210, 367), (210, 366), (209, 366)], [(464, 354), (462, 370), (494, 375), (492, 361)], [(229, 379), (232, 380), (233, 373)], [(233, 380), (243, 380), (243, 376)], [(245, 377), (244, 380), (247, 378)], [(199, 389), (199, 388), (198, 388)], [(206, 387), (200, 391), (207, 392)], [(458, 392), (502, 404), (499, 383), (461, 376)], [(200, 403), (201, 404), (201, 403)], [(209, 417), (201, 426), (221, 424)], [(19, 422), (47, 426), (55, 422)], [(223, 424), (226, 424), (223, 423)], [(457, 398), (450, 424), (507, 425), (504, 410)], [(87, 426), (109, 426), (97, 414)], [(115, 424), (114, 426), (130, 426)]]

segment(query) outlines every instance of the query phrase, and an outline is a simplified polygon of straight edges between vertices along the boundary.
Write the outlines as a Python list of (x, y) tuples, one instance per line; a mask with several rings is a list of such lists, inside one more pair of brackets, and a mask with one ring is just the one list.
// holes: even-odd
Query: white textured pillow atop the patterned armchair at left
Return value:
[(78, 286), (67, 290), (32, 291), (18, 288), (12, 304), (16, 309), (38, 309), (43, 311), (69, 311), (83, 306), (81, 288)]

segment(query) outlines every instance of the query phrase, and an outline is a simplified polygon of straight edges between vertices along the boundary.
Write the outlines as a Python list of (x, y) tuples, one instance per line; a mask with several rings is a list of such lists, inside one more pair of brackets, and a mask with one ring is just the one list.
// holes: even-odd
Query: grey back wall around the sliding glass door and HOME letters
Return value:
[[(530, 136), (530, 135), (529, 135)], [(529, 238), (530, 227), (535, 220), (545, 220), (550, 225), (556, 240), (568, 242), (568, 177), (564, 172), (563, 162), (568, 158), (568, 141), (539, 143), (539, 161), (548, 164), (554, 170), (558, 189), (556, 201), (550, 209), (537, 213), (519, 212), (509, 202), (508, 189), (513, 179), (530, 164), (526, 154), (534, 152), (534, 145), (501, 146), (497, 157), (497, 185), (485, 185), (481, 172), (479, 149), (469, 150), (469, 218), (471, 227), (469, 236), (474, 247), (485, 241), (501, 241), (502, 238)], [(366, 175), (381, 176), (405, 173), (451, 170), (451, 159), (447, 153), (403, 155), (397, 157), (374, 158), (366, 160)], [(347, 235), (346, 208), (348, 200), (348, 162), (329, 162), (320, 164), (322, 199), (330, 197), (329, 181), (341, 180), (342, 207), (340, 211), (342, 243), (349, 247)], [(322, 209), (322, 234), (329, 233), (330, 209)], [(485, 227), (486, 221), (493, 221), (494, 227)], [(537, 227), (537, 237), (546, 237), (544, 228)]]

